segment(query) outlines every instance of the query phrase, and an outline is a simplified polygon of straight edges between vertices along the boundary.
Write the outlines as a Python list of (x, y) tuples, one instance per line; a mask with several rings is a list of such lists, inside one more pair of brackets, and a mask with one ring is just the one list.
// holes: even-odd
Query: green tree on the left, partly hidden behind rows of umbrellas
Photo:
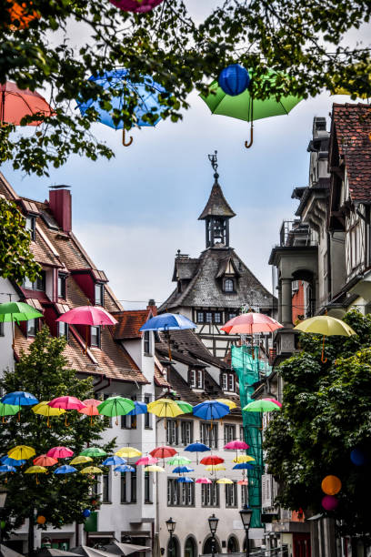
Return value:
[[(67, 394), (80, 400), (93, 398), (92, 379), (76, 378), (76, 371), (67, 367), (64, 349), (65, 339), (50, 337), (49, 330), (44, 327), (36, 335), (29, 351), (22, 354), (15, 371), (5, 371), (1, 386), (7, 392), (31, 392), (40, 401)], [(68, 412), (68, 426), (65, 426), (65, 416), (62, 415), (50, 418), (51, 427), (48, 428), (46, 418), (35, 414), (29, 407), (23, 407), (20, 415), (20, 421), (15, 416), (2, 424), (1, 445), (5, 452), (16, 445), (28, 445), (39, 456), (52, 447), (66, 446), (77, 455), (86, 444), (95, 445), (98, 442), (102, 446), (101, 433), (105, 422), (101, 418), (90, 425), (89, 417), (72, 410)], [(114, 442), (103, 445), (103, 448), (112, 450)], [(65, 463), (68, 461), (59, 462), (60, 465)], [(99, 459), (94, 464), (99, 465)], [(37, 526), (43, 529), (59, 528), (74, 521), (81, 523), (84, 522), (85, 509), (95, 510), (95, 501), (99, 500), (99, 497), (91, 495), (95, 477), (78, 472), (57, 475), (53, 473), (53, 467), (47, 474), (39, 474), (37, 484), (34, 474), (24, 473), (32, 465), (31, 460), (27, 461), (20, 470), (18, 468), (15, 473), (8, 474), (6, 506), (1, 516), (5, 520), (3, 532), (19, 528), (27, 518), (31, 519), (32, 529), (36, 515), (45, 516), (45, 524)], [(77, 465), (79, 467), (81, 465)]]

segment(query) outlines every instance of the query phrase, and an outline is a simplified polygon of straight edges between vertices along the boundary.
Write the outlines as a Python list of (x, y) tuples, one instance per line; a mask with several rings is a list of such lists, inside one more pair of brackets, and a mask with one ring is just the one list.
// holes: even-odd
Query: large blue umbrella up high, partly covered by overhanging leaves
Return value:
[[(88, 108), (94, 108), (99, 115), (99, 121), (105, 126), (113, 127), (114, 129), (123, 130), (123, 145), (128, 147), (133, 143), (133, 137), (125, 143), (125, 127), (123, 120), (115, 123), (113, 118), (113, 111), (122, 109), (130, 102), (133, 96), (138, 99), (137, 105), (134, 109), (134, 116), (136, 118), (136, 125), (140, 126), (155, 126), (160, 120), (161, 116), (157, 116), (161, 104), (158, 100), (159, 94), (166, 93), (163, 86), (156, 83), (151, 76), (143, 76), (143, 83), (135, 83), (130, 80), (130, 72), (127, 69), (115, 69), (105, 72), (101, 76), (90, 76), (88, 81), (94, 81), (98, 86), (104, 89), (114, 89), (118, 92), (118, 96), (112, 96), (110, 103), (112, 105), (111, 112), (99, 106), (100, 100), (89, 99), (85, 102), (77, 102), (77, 107), (80, 109), (81, 114), (84, 116)], [(148, 121), (145, 115), (155, 114), (157, 116), (154, 123)]]

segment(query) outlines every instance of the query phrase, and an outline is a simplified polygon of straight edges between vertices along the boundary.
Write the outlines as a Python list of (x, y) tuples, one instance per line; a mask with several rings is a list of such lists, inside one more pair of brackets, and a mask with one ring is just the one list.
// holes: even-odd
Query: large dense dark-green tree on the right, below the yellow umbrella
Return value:
[(330, 514), (343, 521), (343, 533), (370, 536), (369, 466), (355, 466), (350, 453), (371, 443), (371, 316), (352, 310), (344, 320), (357, 335), (327, 337), (326, 363), (322, 338), (302, 334), (303, 350), (280, 365), (284, 403), (266, 430), (266, 462), (280, 483), (277, 502), (287, 509), (324, 512), (321, 482), (340, 478), (339, 505)]

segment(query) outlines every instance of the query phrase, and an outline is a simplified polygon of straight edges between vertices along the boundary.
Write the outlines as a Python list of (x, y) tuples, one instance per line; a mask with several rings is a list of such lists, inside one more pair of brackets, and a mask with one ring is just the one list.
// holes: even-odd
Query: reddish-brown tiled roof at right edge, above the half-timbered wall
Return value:
[(371, 201), (371, 105), (333, 106), (331, 135), (336, 134), (340, 157), (344, 157), (349, 191), (353, 200)]

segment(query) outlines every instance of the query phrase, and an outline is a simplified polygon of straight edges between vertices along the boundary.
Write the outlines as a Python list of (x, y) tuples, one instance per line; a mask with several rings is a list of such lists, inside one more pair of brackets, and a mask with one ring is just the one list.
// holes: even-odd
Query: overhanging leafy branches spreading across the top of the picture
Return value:
[[(147, 14), (125, 13), (109, 0), (33, 0), (29, 10), (40, 17), (28, 26), (6, 16), (9, 0), (0, 0), (0, 82), (15, 81), (38, 89), (55, 106), (55, 116), (34, 133), (1, 127), (0, 159), (15, 168), (47, 174), (71, 153), (112, 157), (90, 127), (94, 110), (79, 116), (75, 99), (99, 99), (110, 109), (112, 90), (87, 81), (117, 66), (130, 70), (137, 82), (150, 75), (165, 86), (159, 113), (173, 121), (188, 107), (187, 96), (206, 84), (229, 63), (253, 71), (253, 94), (285, 93), (313, 96), (326, 88), (345, 87), (356, 95), (370, 94), (369, 47), (348, 47), (344, 37), (369, 21), (367, 0), (225, 0), (204, 21), (195, 21), (183, 0), (165, 0)], [(71, 39), (71, 35), (75, 34)], [(266, 69), (284, 72), (266, 80)], [(137, 96), (124, 86), (125, 105), (115, 113), (125, 128), (135, 126)], [(148, 121), (156, 114), (149, 112)], [(32, 117), (28, 118), (32, 120)], [(39, 120), (40, 116), (34, 119)], [(26, 120), (24, 122), (26, 124)]]

